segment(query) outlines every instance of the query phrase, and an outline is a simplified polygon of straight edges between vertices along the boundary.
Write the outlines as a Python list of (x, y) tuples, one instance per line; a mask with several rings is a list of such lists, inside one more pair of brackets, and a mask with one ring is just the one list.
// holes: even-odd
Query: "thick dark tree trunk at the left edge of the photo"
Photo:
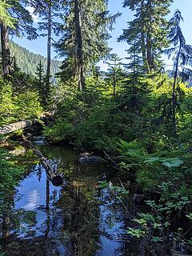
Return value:
[(7, 27), (1, 24), (1, 50), (2, 50), (2, 78), (7, 78), (13, 71), (13, 63), (10, 57), (10, 41)]

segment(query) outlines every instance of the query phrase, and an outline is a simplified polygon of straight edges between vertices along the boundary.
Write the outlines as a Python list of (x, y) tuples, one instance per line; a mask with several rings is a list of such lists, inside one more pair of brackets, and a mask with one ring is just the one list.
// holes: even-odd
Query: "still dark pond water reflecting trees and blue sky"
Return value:
[[(26, 177), (8, 203), (1, 251), (14, 255), (138, 255), (126, 233), (126, 216), (111, 197), (106, 164), (78, 164), (78, 153), (63, 146), (38, 146), (66, 182), (53, 186), (30, 150), (14, 152)], [(112, 181), (113, 182), (113, 181)], [(6, 211), (7, 212), (7, 211)]]

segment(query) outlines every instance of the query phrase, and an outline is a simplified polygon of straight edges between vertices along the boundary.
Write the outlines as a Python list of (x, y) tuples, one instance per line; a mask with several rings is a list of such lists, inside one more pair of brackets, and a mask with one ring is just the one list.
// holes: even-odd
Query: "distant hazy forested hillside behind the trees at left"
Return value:
[[(26, 50), (26, 48), (19, 46), (13, 41), (10, 42), (10, 52), (11, 56), (14, 56), (16, 58), (17, 65), (22, 70), (22, 72), (35, 75), (35, 73), (37, 72), (37, 66), (41, 61), (44, 74), (46, 74), (47, 59), (42, 55), (34, 54), (29, 50)], [(62, 62), (52, 60), (50, 64), (51, 74), (58, 73), (60, 70), (60, 66), (62, 66)]]

